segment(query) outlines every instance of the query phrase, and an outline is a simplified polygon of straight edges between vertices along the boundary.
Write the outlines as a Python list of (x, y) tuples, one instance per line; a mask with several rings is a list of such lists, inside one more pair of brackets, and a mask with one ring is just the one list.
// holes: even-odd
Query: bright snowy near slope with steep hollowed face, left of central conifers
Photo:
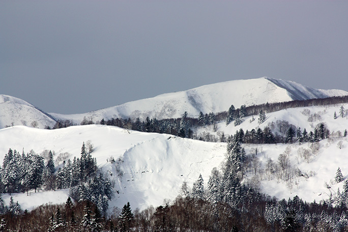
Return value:
[[(56, 130), (15, 126), (0, 130), (0, 141), (6, 144), (0, 147), (0, 159), (3, 160), (9, 148), (17, 151), (24, 148), (25, 152), (33, 149), (37, 154), (45, 149), (53, 150), (56, 153), (54, 159), (67, 152), (72, 160), (74, 156), (80, 157), (82, 142), (88, 140), (95, 147), (92, 156), (97, 158), (99, 167), (114, 183), (110, 209), (114, 206), (122, 208), (127, 201), (134, 209), (161, 205), (165, 198), (173, 199), (180, 193), (184, 181), (192, 186), (199, 173), (208, 181), (211, 167), (219, 166), (225, 152), (223, 143), (167, 134), (128, 133), (111, 126), (73, 126)], [(111, 157), (116, 160), (115, 163), (107, 162)], [(28, 209), (52, 202), (49, 199), (51, 192), (12, 195), (15, 201)], [(67, 196), (68, 191), (57, 192), (62, 203)], [(2, 194), (2, 197), (8, 204), (10, 196)], [(53, 202), (59, 203), (59, 199)]]

